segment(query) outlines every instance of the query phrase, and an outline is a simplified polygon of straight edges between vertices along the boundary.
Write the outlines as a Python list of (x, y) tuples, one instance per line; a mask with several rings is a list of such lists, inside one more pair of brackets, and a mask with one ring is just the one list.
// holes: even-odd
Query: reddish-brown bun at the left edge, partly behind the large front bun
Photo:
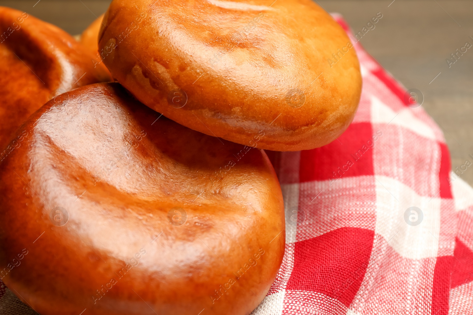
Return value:
[(94, 66), (95, 59), (58, 27), (0, 7), (0, 160), (11, 149), (5, 149), (10, 139), (20, 136), (16, 129), (45, 102), (82, 85), (110, 81), (104, 65)]

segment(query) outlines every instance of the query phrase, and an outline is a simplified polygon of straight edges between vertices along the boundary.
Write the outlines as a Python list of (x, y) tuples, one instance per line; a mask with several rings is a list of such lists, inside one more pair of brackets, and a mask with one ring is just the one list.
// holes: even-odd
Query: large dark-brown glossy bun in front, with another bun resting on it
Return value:
[(20, 262), (5, 284), (43, 315), (249, 314), (285, 246), (263, 150), (160, 117), (119, 84), (61, 99), (0, 163), (0, 264)]

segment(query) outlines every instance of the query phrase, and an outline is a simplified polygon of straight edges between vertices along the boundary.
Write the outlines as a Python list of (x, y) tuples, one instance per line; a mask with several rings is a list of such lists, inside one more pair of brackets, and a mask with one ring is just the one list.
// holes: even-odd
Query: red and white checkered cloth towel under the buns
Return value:
[[(253, 315), (473, 314), (473, 189), (449, 172), (429, 115), (354, 48), (363, 91), (350, 128), (318, 149), (268, 152), (286, 252)], [(35, 314), (4, 286), (0, 295), (0, 314)]]

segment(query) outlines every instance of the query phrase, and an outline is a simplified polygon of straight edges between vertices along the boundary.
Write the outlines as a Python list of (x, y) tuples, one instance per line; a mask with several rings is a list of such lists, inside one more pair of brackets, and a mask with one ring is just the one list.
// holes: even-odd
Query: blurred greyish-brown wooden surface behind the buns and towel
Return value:
[[(284, 0), (279, 0), (284, 1)], [(341, 13), (353, 31), (377, 15), (383, 18), (360, 43), (407, 89), (422, 92), (422, 106), (443, 129), (452, 169), (473, 163), (473, 47), (451, 64), (446, 59), (473, 44), (473, 1), (469, 0), (319, 0)], [(80, 34), (105, 12), (110, 0), (0, 0)], [(471, 37), (470, 37), (471, 36)], [(471, 154), (471, 156), (470, 156)], [(473, 185), (473, 167), (461, 178)]]

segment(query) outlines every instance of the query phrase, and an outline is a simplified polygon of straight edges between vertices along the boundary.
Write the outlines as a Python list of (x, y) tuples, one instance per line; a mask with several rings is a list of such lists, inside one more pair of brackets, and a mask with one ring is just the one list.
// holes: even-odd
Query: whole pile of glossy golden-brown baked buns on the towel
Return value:
[(80, 43), (8, 8), (0, 32), (6, 286), (42, 315), (250, 314), (285, 248), (263, 149), (326, 145), (359, 102), (342, 28), (311, 0), (114, 0)]

